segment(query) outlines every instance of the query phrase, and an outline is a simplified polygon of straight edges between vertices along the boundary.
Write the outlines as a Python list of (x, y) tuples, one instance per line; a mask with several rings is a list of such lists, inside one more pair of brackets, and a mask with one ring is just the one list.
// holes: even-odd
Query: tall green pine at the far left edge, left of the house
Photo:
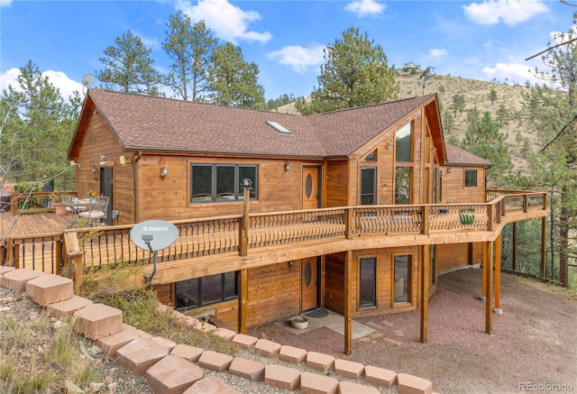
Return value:
[[(2, 178), (39, 185), (74, 188), (67, 154), (80, 108), (78, 92), (65, 101), (60, 90), (29, 61), (20, 69), (16, 86), (0, 99), (2, 116)], [(39, 143), (42, 142), (42, 143)]]

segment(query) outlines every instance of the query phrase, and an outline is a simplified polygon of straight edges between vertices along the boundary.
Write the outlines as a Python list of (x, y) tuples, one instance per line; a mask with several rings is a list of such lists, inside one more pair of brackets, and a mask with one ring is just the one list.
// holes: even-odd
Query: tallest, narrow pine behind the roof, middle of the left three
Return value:
[(164, 83), (183, 100), (199, 101), (209, 88), (208, 69), (218, 44), (204, 22), (191, 26), (188, 15), (172, 14), (162, 49), (173, 61)]

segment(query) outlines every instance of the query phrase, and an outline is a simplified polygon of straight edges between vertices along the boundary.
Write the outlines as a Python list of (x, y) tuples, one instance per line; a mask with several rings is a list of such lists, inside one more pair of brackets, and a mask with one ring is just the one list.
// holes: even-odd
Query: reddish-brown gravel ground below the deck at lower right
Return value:
[(419, 311), (356, 318), (377, 331), (353, 341), (350, 356), (343, 335), (326, 327), (296, 335), (272, 324), (249, 334), (420, 376), (438, 393), (577, 392), (577, 295), (503, 274), (503, 314), (493, 314), (493, 334), (484, 332), (480, 295), (480, 269), (440, 276), (426, 344), (419, 342)]

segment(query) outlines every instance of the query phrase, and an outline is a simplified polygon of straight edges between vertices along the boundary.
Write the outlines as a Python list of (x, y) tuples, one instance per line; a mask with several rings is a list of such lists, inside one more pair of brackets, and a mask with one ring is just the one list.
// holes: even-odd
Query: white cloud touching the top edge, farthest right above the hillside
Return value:
[(536, 14), (549, 11), (540, 0), (490, 0), (463, 5), (463, 10), (467, 19), (473, 23), (503, 22), (508, 25), (526, 22)]

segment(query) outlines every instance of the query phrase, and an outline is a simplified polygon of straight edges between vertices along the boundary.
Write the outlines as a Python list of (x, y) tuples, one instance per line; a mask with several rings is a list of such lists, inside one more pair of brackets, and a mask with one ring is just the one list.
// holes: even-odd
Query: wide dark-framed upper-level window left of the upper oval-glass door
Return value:
[(251, 198), (256, 199), (258, 168), (235, 164), (192, 164), (190, 185), (192, 203), (243, 200), (243, 179), (252, 180)]

